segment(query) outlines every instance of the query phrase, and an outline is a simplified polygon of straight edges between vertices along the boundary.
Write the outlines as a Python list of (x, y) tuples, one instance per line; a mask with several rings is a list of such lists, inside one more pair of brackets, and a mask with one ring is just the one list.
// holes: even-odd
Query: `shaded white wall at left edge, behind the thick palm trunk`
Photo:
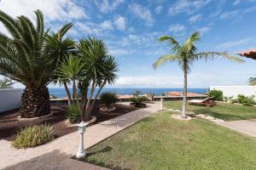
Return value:
[(0, 88), (0, 112), (19, 108), (21, 94), (20, 88)]

